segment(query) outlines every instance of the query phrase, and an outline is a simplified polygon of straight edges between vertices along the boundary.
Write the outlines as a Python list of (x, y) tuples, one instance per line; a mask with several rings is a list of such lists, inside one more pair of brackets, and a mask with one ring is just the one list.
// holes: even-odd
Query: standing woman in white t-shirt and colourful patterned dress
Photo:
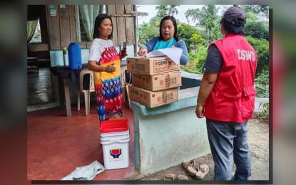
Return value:
[(107, 14), (96, 17), (93, 41), (89, 49), (88, 69), (93, 70), (98, 117), (108, 120), (123, 113), (120, 60), (127, 56), (126, 48), (119, 53), (111, 41), (112, 19)]

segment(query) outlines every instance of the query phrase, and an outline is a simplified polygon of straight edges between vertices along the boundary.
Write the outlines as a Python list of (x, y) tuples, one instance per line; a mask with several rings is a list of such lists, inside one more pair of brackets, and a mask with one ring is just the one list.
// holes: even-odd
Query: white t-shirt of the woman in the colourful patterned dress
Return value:
[(101, 54), (105, 48), (112, 47), (113, 42), (111, 40), (103, 40), (101, 38), (95, 38), (91, 42), (91, 48), (89, 48), (88, 61), (94, 60), (99, 63)]

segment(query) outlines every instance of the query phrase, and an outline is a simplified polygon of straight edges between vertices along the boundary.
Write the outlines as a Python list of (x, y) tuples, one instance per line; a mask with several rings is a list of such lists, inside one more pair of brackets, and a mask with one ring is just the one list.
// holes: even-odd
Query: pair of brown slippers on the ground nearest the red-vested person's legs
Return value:
[(206, 174), (209, 172), (209, 166), (203, 163), (196, 163), (193, 160), (184, 161), (183, 167), (188, 171), (190, 176), (195, 176), (195, 179), (203, 179)]

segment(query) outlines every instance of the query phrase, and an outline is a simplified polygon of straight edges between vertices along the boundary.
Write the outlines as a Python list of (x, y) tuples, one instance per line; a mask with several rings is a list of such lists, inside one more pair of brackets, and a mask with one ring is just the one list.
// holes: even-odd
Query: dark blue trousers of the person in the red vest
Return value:
[[(248, 122), (219, 122), (206, 119), (210, 149), (215, 163), (214, 180), (248, 180), (251, 155), (247, 145)], [(233, 160), (236, 171), (233, 176)]]

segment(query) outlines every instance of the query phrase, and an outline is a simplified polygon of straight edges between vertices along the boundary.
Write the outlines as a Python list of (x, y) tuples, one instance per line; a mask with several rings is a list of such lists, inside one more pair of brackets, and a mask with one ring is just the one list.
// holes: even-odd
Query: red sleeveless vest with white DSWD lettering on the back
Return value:
[(257, 53), (243, 36), (228, 34), (211, 44), (220, 51), (223, 66), (213, 90), (205, 101), (205, 117), (242, 123), (252, 119)]

